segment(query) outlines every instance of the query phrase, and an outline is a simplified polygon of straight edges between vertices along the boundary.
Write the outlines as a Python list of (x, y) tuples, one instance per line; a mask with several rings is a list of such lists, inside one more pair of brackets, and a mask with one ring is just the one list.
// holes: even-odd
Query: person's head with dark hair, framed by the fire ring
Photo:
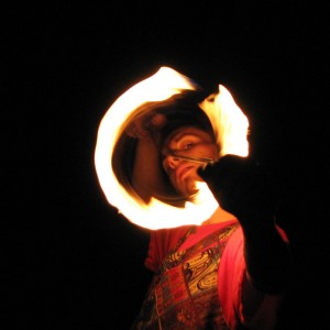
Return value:
[(220, 146), (216, 143), (210, 120), (199, 107), (204, 97), (200, 91), (189, 91), (180, 96), (166, 112), (163, 112), (166, 123), (155, 138), (161, 153), (160, 166), (164, 172), (164, 180), (172, 188), (174, 199), (194, 199), (198, 191), (196, 182), (202, 180), (197, 169), (204, 165), (176, 156), (215, 160), (219, 155)]

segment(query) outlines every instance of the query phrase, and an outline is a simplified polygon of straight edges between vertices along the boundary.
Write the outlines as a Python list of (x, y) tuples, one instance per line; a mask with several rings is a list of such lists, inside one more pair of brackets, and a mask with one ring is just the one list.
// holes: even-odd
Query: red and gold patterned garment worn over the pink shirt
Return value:
[(155, 275), (131, 329), (230, 329), (218, 295), (218, 268), (229, 237), (238, 228), (218, 229), (179, 250), (196, 227), (172, 249)]

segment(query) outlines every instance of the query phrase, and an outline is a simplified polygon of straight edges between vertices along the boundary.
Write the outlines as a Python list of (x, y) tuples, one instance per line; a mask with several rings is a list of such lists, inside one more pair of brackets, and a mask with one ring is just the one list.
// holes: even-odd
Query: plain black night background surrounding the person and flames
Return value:
[(1, 329), (129, 329), (148, 237), (107, 204), (94, 150), (111, 103), (161, 66), (248, 114), (295, 256), (278, 329), (324, 329), (329, 11), (261, 3), (2, 6)]

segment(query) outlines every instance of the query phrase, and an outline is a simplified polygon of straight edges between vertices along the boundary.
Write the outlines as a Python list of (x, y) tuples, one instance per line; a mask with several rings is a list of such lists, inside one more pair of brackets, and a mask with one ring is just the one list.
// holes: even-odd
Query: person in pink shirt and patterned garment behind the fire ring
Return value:
[[(205, 182), (219, 207), (201, 226), (151, 231), (154, 272), (132, 329), (274, 329), (289, 277), (286, 233), (274, 191), (251, 157), (218, 160), (212, 125), (190, 91), (127, 128), (134, 144), (132, 188), (180, 207)], [(155, 219), (157, 221), (157, 219)]]

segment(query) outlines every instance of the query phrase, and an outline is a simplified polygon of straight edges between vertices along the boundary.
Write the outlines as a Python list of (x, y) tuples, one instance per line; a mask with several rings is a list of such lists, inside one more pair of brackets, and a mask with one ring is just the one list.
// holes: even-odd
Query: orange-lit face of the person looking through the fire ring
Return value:
[(183, 196), (197, 193), (196, 182), (202, 182), (197, 174), (202, 164), (176, 156), (217, 158), (217, 145), (212, 136), (195, 127), (182, 127), (165, 141), (163, 167), (173, 187)]

